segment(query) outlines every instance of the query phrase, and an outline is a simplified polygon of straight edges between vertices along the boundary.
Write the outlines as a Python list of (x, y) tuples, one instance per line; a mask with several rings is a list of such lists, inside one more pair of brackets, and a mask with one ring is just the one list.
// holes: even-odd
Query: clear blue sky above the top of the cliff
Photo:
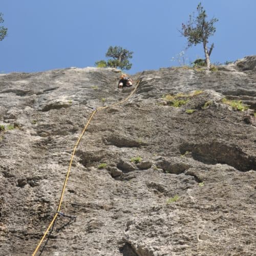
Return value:
[[(8, 36), (0, 41), (0, 73), (94, 66), (109, 46), (133, 51), (134, 74), (179, 66), (186, 47), (178, 29), (196, 11), (196, 0), (1, 0)], [(211, 62), (255, 55), (256, 1), (203, 0), (216, 17)], [(202, 46), (185, 52), (186, 62), (204, 57)]]

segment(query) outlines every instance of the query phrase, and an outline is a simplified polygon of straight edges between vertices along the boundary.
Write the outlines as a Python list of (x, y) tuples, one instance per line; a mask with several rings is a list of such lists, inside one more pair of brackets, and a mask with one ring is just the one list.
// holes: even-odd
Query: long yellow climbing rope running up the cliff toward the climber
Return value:
[(127, 100), (129, 100), (129, 99), (132, 97), (132, 95), (135, 93), (136, 89), (138, 88), (139, 83), (140, 83), (140, 81), (138, 81), (138, 82), (136, 83), (136, 86), (135, 86), (134, 90), (133, 90), (133, 91), (130, 93), (130, 95), (129, 95), (128, 97), (126, 97), (124, 100), (118, 101), (118, 102), (113, 103), (113, 104), (110, 104), (110, 105), (108, 105), (108, 106), (101, 106), (101, 107), (95, 109), (95, 110), (92, 112), (92, 114), (91, 114), (91, 116), (90, 116), (90, 118), (89, 118), (87, 124), (84, 126), (83, 131), (82, 131), (80, 137), (78, 138), (78, 140), (77, 140), (77, 142), (76, 142), (76, 144), (75, 144), (75, 146), (74, 146), (74, 150), (73, 150), (73, 153), (72, 153), (71, 159), (70, 159), (70, 164), (69, 164), (68, 172), (67, 172), (67, 174), (66, 174), (66, 179), (65, 179), (65, 181), (64, 181), (64, 183), (63, 183), (63, 186), (62, 186), (62, 191), (61, 191), (61, 196), (60, 196), (60, 199), (59, 199), (58, 209), (57, 209), (57, 211), (56, 211), (56, 213), (55, 213), (55, 215), (54, 215), (54, 217), (53, 217), (53, 219), (52, 219), (50, 225), (48, 226), (48, 228), (46, 229), (44, 235), (42, 236), (40, 242), (38, 243), (37, 247), (35, 248), (35, 250), (34, 250), (32, 256), (35, 256), (35, 255), (36, 255), (36, 252), (37, 252), (38, 249), (40, 248), (40, 246), (41, 246), (42, 242), (44, 241), (44, 239), (45, 239), (47, 233), (49, 232), (50, 228), (53, 227), (53, 225), (54, 225), (54, 223), (55, 223), (55, 220), (56, 220), (56, 218), (58, 217), (58, 215), (65, 216), (64, 214), (62, 214), (62, 212), (60, 212), (60, 207), (61, 207), (61, 204), (62, 204), (62, 201), (63, 201), (63, 196), (64, 196), (65, 189), (66, 189), (66, 186), (67, 186), (67, 182), (68, 182), (68, 179), (69, 179), (69, 174), (70, 174), (71, 166), (72, 166), (72, 163), (73, 163), (73, 159), (74, 159), (74, 156), (75, 156), (76, 149), (77, 149), (77, 147), (78, 147), (78, 145), (79, 145), (79, 143), (80, 143), (80, 141), (81, 141), (81, 139), (82, 139), (84, 133), (86, 132), (87, 127), (88, 127), (88, 125), (90, 124), (90, 122), (91, 122), (93, 116), (96, 114), (97, 111), (110, 108), (111, 106), (115, 106), (115, 105), (122, 104), (122, 103), (126, 102)]

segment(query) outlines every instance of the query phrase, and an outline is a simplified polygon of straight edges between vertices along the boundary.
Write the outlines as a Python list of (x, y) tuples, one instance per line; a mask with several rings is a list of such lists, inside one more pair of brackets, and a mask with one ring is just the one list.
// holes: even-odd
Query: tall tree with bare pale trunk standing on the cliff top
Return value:
[(198, 16), (189, 15), (189, 21), (187, 24), (182, 23), (182, 31), (180, 33), (187, 37), (187, 47), (203, 43), (205, 64), (207, 69), (210, 69), (210, 54), (214, 49), (214, 44), (211, 45), (208, 50), (208, 38), (214, 35), (216, 28), (214, 24), (218, 22), (217, 18), (212, 18), (209, 21), (206, 20), (207, 14), (202, 7), (201, 3), (197, 6)]

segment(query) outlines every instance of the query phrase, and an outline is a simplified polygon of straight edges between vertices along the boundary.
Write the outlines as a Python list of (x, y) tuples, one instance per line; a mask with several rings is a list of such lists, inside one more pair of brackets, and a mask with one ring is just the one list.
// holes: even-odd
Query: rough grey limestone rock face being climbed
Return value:
[[(255, 63), (133, 76), (133, 97), (88, 126), (61, 206), (76, 218), (57, 217), (40, 255), (253, 255)], [(93, 108), (132, 90), (117, 89), (118, 77), (100, 68), (0, 76), (0, 255), (33, 253)]]

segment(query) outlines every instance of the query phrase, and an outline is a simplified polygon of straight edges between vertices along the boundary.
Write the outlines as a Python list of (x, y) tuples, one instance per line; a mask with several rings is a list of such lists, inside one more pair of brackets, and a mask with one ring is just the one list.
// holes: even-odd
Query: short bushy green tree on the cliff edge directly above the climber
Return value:
[(133, 57), (133, 52), (123, 49), (120, 46), (110, 46), (106, 52), (107, 61), (99, 60), (95, 62), (97, 67), (120, 68), (121, 70), (129, 70), (132, 67), (129, 59)]

